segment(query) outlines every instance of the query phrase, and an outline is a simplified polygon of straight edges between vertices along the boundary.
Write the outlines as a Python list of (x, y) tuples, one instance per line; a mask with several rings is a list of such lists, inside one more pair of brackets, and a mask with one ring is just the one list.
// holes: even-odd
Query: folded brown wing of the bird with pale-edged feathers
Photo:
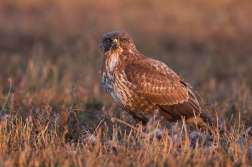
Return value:
[(201, 113), (190, 85), (164, 63), (145, 57), (125, 67), (129, 82), (136, 88), (139, 97), (159, 106), (173, 119), (187, 118)]

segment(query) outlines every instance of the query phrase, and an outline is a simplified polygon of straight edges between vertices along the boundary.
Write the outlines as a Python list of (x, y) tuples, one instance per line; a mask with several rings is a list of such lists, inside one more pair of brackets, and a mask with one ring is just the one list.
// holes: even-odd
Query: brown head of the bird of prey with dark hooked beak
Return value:
[(104, 55), (129, 51), (135, 48), (133, 40), (124, 30), (111, 31), (102, 36), (99, 51)]

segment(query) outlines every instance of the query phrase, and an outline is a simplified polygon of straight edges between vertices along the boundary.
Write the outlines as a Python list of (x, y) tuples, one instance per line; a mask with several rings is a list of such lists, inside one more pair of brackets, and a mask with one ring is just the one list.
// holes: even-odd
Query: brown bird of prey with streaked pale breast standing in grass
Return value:
[(153, 111), (168, 121), (184, 117), (190, 125), (204, 125), (203, 113), (191, 86), (164, 63), (142, 55), (126, 31), (103, 35), (102, 85), (124, 110), (143, 124)]

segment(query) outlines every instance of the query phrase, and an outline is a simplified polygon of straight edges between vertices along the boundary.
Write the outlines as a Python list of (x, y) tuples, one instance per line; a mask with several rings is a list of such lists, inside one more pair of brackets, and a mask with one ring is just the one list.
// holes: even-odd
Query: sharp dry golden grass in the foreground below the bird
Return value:
[(109, 118), (80, 124), (74, 111), (57, 115), (46, 106), (25, 120), (2, 116), (0, 125), (2, 166), (251, 165), (251, 136), (243, 124), (217, 132), (211, 141), (204, 135), (192, 140), (197, 133), (189, 135), (186, 126), (157, 139), (143, 134), (142, 127), (130, 130)]

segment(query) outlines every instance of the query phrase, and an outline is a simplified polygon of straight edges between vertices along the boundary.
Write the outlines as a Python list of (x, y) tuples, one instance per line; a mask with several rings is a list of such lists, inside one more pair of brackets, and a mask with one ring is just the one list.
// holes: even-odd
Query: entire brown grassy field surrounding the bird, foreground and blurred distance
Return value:
[[(251, 11), (248, 0), (1, 0), (0, 166), (252, 166)], [(98, 44), (116, 29), (193, 85), (225, 133), (193, 140), (179, 123), (146, 136), (100, 84)]]

